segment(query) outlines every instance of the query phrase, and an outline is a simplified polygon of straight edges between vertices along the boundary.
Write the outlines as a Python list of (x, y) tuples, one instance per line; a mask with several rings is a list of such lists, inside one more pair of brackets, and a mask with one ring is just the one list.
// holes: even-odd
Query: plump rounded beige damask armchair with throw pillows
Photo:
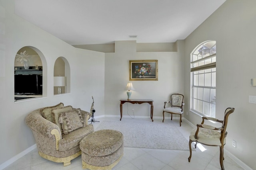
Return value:
[[(77, 129), (75, 128), (71, 131), (70, 129), (73, 126), (72, 122), (70, 122), (70, 125), (68, 125), (70, 131), (65, 133), (62, 125), (58, 123), (59, 121), (52, 120), (54, 119), (53, 110), (58, 113), (56, 118), (59, 118), (61, 114), (64, 114), (64, 117), (67, 113), (77, 112), (78, 109), (74, 109), (71, 106), (63, 107), (62, 103), (52, 107), (36, 109), (27, 115), (26, 124), (33, 132), (40, 156), (53, 162), (63, 162), (64, 166), (68, 166), (71, 164), (72, 159), (81, 154), (80, 141), (94, 131), (93, 125), (88, 125), (87, 123), (91, 115), (86, 111), (79, 110), (80, 118), (78, 118), (80, 122), (76, 124), (80, 123), (81, 126), (77, 128), (76, 125)], [(51, 114), (52, 117), (50, 116)], [(75, 113), (72, 113), (72, 115), (75, 115)], [(64, 117), (60, 122), (65, 120)]]

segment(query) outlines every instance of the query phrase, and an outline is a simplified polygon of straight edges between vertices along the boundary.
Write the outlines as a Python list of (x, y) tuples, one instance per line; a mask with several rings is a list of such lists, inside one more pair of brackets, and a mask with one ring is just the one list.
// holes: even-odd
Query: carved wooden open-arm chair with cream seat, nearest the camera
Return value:
[[(224, 145), (226, 144), (226, 136), (228, 132), (226, 132), (228, 116), (234, 112), (234, 108), (228, 107), (225, 111), (224, 121), (218, 120), (212, 117), (202, 117), (202, 123), (197, 124), (197, 128), (194, 129), (189, 136), (189, 150), (190, 156), (188, 157), (188, 162), (190, 162), (192, 156), (191, 144), (192, 142), (201, 143), (203, 145), (208, 146), (218, 146), (220, 147), (220, 166), (221, 169), (224, 170), (223, 165), (223, 154), (224, 154)], [(222, 127), (213, 127), (210, 125), (204, 124), (204, 119), (210, 121), (216, 121), (222, 123)], [(196, 145), (195, 145), (196, 148)]]

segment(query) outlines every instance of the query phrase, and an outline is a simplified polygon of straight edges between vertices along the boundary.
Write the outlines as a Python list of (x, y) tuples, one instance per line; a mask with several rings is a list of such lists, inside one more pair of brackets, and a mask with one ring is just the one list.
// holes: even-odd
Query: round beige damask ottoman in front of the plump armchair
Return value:
[(123, 156), (124, 137), (109, 129), (95, 131), (80, 142), (83, 169), (111, 170)]

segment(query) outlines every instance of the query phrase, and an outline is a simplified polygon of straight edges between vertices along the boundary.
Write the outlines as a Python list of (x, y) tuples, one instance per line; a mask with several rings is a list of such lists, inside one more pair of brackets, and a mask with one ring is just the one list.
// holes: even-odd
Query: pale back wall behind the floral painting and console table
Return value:
[[(184, 48), (184, 41), (178, 41)], [(132, 82), (136, 90), (131, 99), (154, 100), (154, 117), (162, 118), (164, 101), (170, 94), (184, 92), (184, 54), (182, 52), (136, 52), (136, 41), (116, 41), (115, 53), (105, 54), (105, 115), (120, 115), (120, 99), (127, 99), (124, 90)], [(158, 81), (129, 81), (129, 60), (158, 60)], [(150, 118), (149, 104), (123, 104), (123, 116)], [(167, 117), (168, 115), (166, 115)], [(116, 118), (119, 119), (119, 118)]]

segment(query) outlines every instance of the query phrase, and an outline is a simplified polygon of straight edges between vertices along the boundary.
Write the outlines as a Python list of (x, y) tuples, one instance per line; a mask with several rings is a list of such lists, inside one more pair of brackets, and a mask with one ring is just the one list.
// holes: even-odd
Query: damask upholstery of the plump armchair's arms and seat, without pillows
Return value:
[[(41, 110), (42, 108), (36, 109), (26, 116), (26, 125), (32, 130), (38, 151), (56, 158), (66, 158), (80, 152), (79, 143), (86, 135), (94, 131), (93, 125), (87, 125), (86, 127), (76, 129), (74, 133), (71, 132), (64, 135), (61, 133), (58, 125), (42, 117)], [(84, 120), (88, 121), (90, 113), (82, 110), (81, 113), (85, 118)], [(57, 129), (60, 135), (58, 150), (56, 149), (56, 139), (51, 134), (53, 129)]]

